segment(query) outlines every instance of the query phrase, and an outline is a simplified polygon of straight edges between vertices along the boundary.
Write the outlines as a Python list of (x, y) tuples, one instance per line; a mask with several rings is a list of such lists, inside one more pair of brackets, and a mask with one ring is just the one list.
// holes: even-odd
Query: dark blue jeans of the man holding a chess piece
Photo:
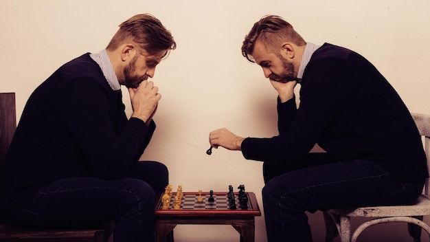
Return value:
[(279, 164), (264, 162), (262, 190), (269, 242), (308, 242), (306, 211), (405, 204), (421, 194), (422, 182), (399, 182), (376, 162), (337, 162), (325, 153)]

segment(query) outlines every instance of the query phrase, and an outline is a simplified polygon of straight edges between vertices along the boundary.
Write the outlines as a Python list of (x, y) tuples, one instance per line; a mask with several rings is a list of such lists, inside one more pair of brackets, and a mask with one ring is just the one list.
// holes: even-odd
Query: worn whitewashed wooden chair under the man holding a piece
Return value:
[[(430, 170), (430, 115), (412, 113), (412, 116), (422, 135), (427, 155), (427, 167)], [(420, 241), (421, 229), (424, 229), (429, 235), (430, 227), (422, 221), (425, 215), (430, 215), (430, 198), (429, 198), (429, 179), (425, 182), (425, 188), (422, 195), (414, 204), (409, 206), (375, 206), (351, 209), (332, 209), (324, 212), (324, 221), (326, 223), (326, 242), (332, 242), (333, 239), (340, 235), (341, 242), (355, 242), (363, 230), (372, 225), (389, 222), (408, 223), (409, 235), (414, 238), (414, 242)], [(352, 233), (350, 219), (352, 217), (371, 218), (365, 221)]]

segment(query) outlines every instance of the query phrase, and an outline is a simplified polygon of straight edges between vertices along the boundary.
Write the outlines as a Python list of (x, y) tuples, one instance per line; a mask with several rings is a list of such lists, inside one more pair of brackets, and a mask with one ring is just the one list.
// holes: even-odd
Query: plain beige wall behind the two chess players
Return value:
[[(245, 184), (262, 206), (260, 162), (223, 148), (205, 154), (209, 132), (220, 127), (244, 137), (277, 133), (276, 93), (261, 69), (240, 53), (253, 23), (278, 14), (306, 41), (359, 52), (411, 111), (430, 113), (429, 9), (429, 0), (0, 0), (0, 92), (16, 92), (19, 118), (32, 91), (60, 65), (102, 50), (128, 17), (154, 14), (172, 31), (178, 47), (153, 78), (163, 97), (155, 116), (157, 131), (142, 159), (166, 164), (175, 188), (227, 191), (230, 184)], [(129, 114), (126, 92), (124, 102)], [(310, 224), (315, 241), (324, 241), (321, 214), (311, 214)], [(384, 241), (405, 241), (405, 228), (370, 228), (359, 239), (381, 241), (385, 234), (390, 239)], [(179, 225), (175, 238), (229, 242), (238, 241), (238, 234), (229, 225)], [(266, 241), (263, 217), (256, 219), (256, 241)]]

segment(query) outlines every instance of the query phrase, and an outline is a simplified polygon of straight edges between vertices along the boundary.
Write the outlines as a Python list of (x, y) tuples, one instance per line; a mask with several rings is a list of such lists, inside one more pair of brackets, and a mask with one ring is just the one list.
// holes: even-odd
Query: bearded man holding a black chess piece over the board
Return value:
[[(209, 140), (264, 162), (269, 241), (312, 241), (305, 211), (410, 203), (420, 195), (427, 168), (414, 120), (365, 58), (306, 43), (276, 16), (253, 25), (242, 54), (278, 91), (279, 135), (244, 138), (218, 129)], [(315, 144), (326, 153), (309, 153)]]

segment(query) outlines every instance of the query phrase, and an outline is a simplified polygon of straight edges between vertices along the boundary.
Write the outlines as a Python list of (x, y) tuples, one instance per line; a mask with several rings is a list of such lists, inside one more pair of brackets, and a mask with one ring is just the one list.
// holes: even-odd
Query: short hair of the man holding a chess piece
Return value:
[(280, 45), (290, 41), (297, 46), (306, 45), (306, 41), (295, 32), (293, 26), (279, 16), (266, 15), (260, 21), (254, 23), (253, 27), (245, 36), (242, 44), (242, 55), (248, 61), (255, 63), (251, 54), (257, 41), (272, 52), (279, 50)]

